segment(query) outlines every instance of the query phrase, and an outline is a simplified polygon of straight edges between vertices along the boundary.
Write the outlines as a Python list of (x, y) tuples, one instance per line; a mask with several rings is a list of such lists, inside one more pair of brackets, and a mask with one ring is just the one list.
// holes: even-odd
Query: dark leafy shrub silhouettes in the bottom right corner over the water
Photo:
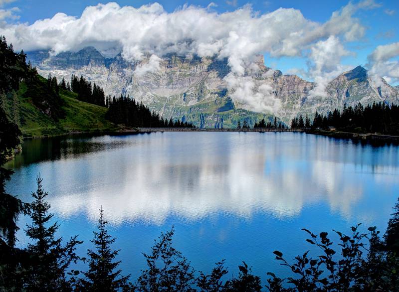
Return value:
[[(290, 264), (281, 252), (275, 251), (276, 260), (288, 267), (294, 276), (280, 279), (268, 273), (271, 276), (267, 280), (269, 291), (398, 291), (399, 281), (395, 277), (398, 259), (382, 251), (376, 227), (362, 234), (358, 231), (359, 225), (351, 228), (350, 236), (334, 231), (340, 240), (339, 256), (327, 232), (317, 236), (303, 229), (310, 235), (306, 241), (318, 247), (321, 254), (312, 258), (307, 251)], [(365, 239), (369, 239), (368, 248)], [(284, 287), (285, 284), (288, 287)]]

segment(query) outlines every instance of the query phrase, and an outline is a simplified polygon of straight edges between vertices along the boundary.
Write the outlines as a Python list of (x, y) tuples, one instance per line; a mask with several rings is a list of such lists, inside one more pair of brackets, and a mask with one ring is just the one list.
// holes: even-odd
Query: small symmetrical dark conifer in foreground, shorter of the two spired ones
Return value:
[(129, 276), (121, 276), (121, 270), (116, 270), (121, 261), (114, 261), (119, 250), (112, 250), (111, 244), (115, 242), (108, 234), (104, 221), (104, 210), (100, 209), (100, 219), (98, 220), (98, 231), (93, 232), (96, 249), (88, 250), (89, 271), (83, 273), (85, 278), (80, 280), (79, 289), (81, 291), (116, 291), (126, 286)]

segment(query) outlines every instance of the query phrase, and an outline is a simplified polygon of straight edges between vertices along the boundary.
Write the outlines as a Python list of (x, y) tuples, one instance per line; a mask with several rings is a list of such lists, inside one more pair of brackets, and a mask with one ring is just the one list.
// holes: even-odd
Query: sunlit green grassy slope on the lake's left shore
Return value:
[(16, 93), (2, 97), (6, 112), (18, 124), (24, 137), (115, 130), (115, 125), (105, 120), (106, 108), (78, 101), (75, 93), (60, 91), (65, 116), (55, 121), (33, 105), (27, 92), (26, 84), (21, 83)]

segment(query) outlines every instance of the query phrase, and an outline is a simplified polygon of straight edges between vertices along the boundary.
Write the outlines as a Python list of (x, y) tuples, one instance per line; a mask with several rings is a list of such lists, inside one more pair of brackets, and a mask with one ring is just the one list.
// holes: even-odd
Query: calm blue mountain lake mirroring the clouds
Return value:
[(311, 248), (301, 228), (333, 235), (363, 223), (384, 232), (399, 196), (398, 146), (304, 133), (74, 136), (22, 148), (7, 164), (15, 171), (7, 191), (29, 202), (40, 173), (58, 235), (79, 235), (81, 255), (102, 206), (133, 279), (145, 268), (141, 253), (174, 225), (175, 247), (197, 271), (225, 259), (237, 275), (245, 261), (264, 285), (266, 272), (287, 275), (274, 250), (291, 259)]

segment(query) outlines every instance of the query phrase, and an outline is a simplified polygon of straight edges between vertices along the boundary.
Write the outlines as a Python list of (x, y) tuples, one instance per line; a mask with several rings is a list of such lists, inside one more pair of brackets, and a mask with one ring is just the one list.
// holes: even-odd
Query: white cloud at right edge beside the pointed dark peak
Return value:
[(387, 82), (399, 82), (399, 42), (380, 45), (369, 56), (370, 73), (383, 76)]

